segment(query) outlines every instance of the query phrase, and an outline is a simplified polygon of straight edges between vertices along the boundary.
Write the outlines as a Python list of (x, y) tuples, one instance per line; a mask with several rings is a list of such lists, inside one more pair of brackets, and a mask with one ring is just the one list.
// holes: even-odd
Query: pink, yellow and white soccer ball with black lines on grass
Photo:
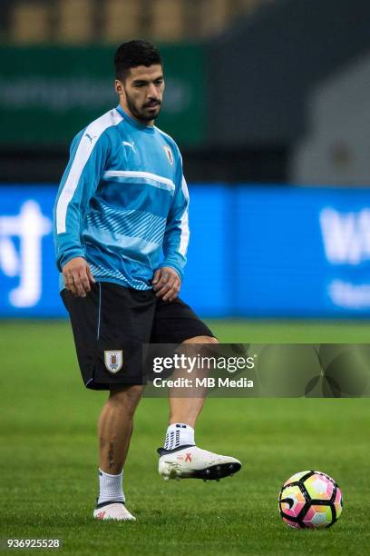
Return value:
[(330, 527), (342, 508), (342, 492), (334, 479), (322, 472), (296, 473), (278, 495), (280, 515), (294, 529)]

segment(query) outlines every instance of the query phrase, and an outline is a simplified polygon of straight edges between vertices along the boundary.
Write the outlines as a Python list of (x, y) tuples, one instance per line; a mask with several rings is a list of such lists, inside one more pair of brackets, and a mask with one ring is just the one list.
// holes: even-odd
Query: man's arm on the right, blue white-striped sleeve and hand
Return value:
[(178, 162), (176, 190), (167, 218), (163, 238), (164, 261), (154, 273), (153, 289), (163, 301), (173, 301), (180, 292), (180, 284), (186, 264), (189, 244), (189, 193), (182, 174), (181, 159)]

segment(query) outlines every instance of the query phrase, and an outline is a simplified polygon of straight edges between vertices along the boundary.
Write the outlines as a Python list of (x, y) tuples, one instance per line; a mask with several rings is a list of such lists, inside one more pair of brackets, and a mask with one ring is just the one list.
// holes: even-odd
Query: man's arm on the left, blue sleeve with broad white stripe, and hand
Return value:
[(102, 177), (109, 149), (105, 134), (92, 138), (83, 131), (75, 137), (54, 205), (56, 263), (63, 272), (65, 287), (82, 297), (90, 291), (93, 283), (81, 241), (82, 224)]

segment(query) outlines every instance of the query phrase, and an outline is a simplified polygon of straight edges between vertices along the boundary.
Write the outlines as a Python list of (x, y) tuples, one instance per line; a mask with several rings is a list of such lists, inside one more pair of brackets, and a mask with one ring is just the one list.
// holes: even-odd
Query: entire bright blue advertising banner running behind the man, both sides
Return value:
[[(56, 186), (0, 187), (0, 316), (65, 316)], [(181, 297), (204, 316), (370, 316), (370, 190), (190, 185)]]

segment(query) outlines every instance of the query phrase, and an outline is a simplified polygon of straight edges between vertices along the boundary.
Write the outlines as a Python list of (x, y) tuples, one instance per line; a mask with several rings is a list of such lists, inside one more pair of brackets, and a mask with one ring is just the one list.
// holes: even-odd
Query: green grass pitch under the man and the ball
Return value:
[[(214, 321), (219, 340), (368, 343), (369, 323)], [(143, 399), (124, 470), (137, 522), (93, 521), (96, 421), (103, 392), (83, 389), (69, 325), (0, 322), (0, 538), (63, 541), (69, 554), (368, 554), (367, 399), (209, 399), (200, 446), (235, 455), (221, 482), (163, 482), (155, 449), (167, 401)], [(334, 476), (344, 511), (325, 531), (291, 531), (277, 512), (294, 472)], [(22, 551), (35, 553), (34, 551)], [(21, 552), (21, 553), (22, 553)], [(47, 551), (54, 552), (54, 551)]]

